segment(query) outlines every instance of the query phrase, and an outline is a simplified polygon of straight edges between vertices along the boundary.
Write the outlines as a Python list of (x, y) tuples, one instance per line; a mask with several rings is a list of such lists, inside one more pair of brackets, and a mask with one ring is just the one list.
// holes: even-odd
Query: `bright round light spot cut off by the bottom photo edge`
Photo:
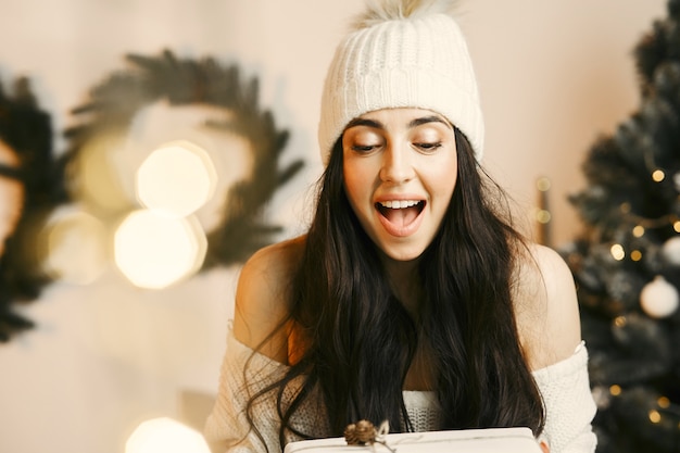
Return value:
[(125, 443), (125, 453), (210, 453), (201, 433), (172, 418), (141, 423)]

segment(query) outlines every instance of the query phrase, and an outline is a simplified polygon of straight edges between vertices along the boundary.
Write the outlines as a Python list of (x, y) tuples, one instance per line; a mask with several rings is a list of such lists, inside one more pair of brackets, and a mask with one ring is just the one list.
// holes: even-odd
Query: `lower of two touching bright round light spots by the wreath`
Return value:
[(206, 247), (194, 217), (173, 218), (148, 210), (130, 213), (114, 237), (116, 265), (141, 288), (165, 288), (194, 274)]

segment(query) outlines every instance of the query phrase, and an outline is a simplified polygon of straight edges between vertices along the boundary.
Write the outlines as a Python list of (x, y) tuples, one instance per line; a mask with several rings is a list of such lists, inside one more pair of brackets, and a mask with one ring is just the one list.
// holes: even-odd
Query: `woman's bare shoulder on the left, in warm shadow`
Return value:
[(286, 330), (269, 336), (288, 316), (289, 288), (304, 243), (301, 236), (255, 252), (243, 265), (236, 290), (235, 337), (252, 349), (262, 347), (260, 352), (281, 363), (288, 360)]

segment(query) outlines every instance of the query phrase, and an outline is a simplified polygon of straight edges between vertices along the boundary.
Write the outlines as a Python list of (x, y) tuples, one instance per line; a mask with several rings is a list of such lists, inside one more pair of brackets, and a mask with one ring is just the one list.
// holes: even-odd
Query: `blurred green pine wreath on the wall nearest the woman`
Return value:
[(86, 119), (65, 131), (67, 161), (73, 162), (88, 140), (102, 133), (125, 133), (139, 110), (156, 101), (224, 109), (230, 113), (228, 119), (209, 126), (249, 140), (253, 171), (250, 178), (229, 189), (219, 225), (207, 234), (202, 269), (244, 262), (281, 230), (263, 221), (263, 210), (303, 166), (302, 160), (294, 160), (279, 168), (289, 134), (276, 127), (268, 110), (260, 109), (257, 78), (243, 79), (236, 64), (221, 65), (211, 58), (178, 59), (169, 50), (159, 56), (127, 54), (125, 59), (131, 66), (128, 71), (114, 72), (91, 89), (87, 103), (72, 111)]

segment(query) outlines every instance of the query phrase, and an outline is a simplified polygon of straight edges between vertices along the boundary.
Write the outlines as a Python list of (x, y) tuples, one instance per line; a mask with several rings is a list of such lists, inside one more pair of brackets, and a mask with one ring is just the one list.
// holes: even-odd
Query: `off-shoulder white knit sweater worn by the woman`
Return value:
[[(244, 367), (250, 360), (249, 366)], [(596, 439), (591, 421), (595, 415), (588, 379), (588, 352), (583, 343), (574, 355), (563, 362), (533, 373), (546, 410), (545, 428), (540, 440), (545, 440), (551, 453), (592, 453)], [(207, 417), (204, 435), (219, 453), (265, 452), (257, 436), (250, 430), (244, 407), (250, 395), (284, 376), (288, 367), (262, 355), (239, 342), (231, 332), (221, 370), (219, 391), (215, 406)], [(249, 386), (245, 386), (249, 382)], [(290, 398), (294, 389), (290, 389)], [(405, 391), (404, 403), (416, 431), (428, 431), (439, 426), (440, 412), (433, 392)], [(300, 431), (314, 437), (328, 437), (320, 398), (307, 399), (297, 413), (293, 424)], [(253, 408), (261, 435), (269, 453), (280, 452), (279, 418), (276, 397), (261, 399)], [(287, 441), (300, 440), (289, 436)], [(231, 445), (231, 446), (228, 446)]]

